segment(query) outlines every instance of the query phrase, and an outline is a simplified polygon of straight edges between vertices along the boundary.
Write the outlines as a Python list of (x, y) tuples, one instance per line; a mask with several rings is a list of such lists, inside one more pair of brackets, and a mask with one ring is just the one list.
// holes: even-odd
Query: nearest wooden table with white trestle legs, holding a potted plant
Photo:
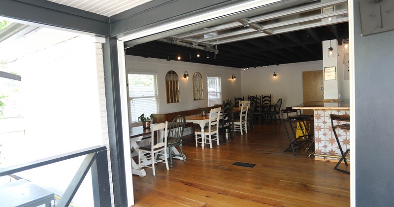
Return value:
[[(156, 124), (154, 124), (156, 125)], [(191, 122), (187, 122), (185, 124), (185, 128), (192, 127), (194, 124)], [(142, 126), (131, 127), (130, 128), (130, 155), (131, 157), (138, 156), (137, 149), (144, 143), (144, 139), (151, 138), (152, 131), (150, 128), (144, 129)], [(179, 154), (178, 150), (175, 147), (171, 148), (174, 154)], [(174, 158), (183, 160), (182, 156), (175, 156)], [(143, 161), (143, 165), (150, 165), (148, 161)], [(136, 174), (140, 177), (146, 175), (144, 169), (138, 167), (138, 164), (131, 158), (131, 173)]]

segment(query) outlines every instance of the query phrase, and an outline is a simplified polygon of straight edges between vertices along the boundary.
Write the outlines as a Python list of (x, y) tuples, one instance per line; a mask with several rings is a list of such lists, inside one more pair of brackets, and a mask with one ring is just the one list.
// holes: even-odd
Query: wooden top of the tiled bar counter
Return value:
[(306, 102), (292, 107), (293, 109), (312, 109), (312, 110), (349, 110), (350, 104), (344, 101), (338, 102)]

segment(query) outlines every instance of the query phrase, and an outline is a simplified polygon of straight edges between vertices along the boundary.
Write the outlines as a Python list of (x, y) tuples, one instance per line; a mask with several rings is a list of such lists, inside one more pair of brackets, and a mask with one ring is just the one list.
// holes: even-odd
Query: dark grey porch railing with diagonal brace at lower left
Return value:
[(110, 207), (111, 195), (109, 189), (107, 148), (105, 146), (88, 147), (85, 149), (36, 160), (26, 164), (3, 168), (0, 169), (0, 176), (30, 170), (83, 155), (86, 155), (84, 161), (82, 162), (78, 171), (75, 173), (57, 206), (68, 207), (83, 179), (85, 178), (85, 175), (91, 169), (94, 205), (95, 207)]

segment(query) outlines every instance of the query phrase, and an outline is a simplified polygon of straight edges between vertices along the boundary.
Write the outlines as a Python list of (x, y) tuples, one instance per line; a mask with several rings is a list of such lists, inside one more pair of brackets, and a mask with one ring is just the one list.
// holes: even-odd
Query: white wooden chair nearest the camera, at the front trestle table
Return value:
[[(168, 122), (152, 124), (151, 144), (138, 148), (138, 167), (152, 168), (153, 175), (156, 175), (155, 163), (165, 163), (165, 167), (168, 170), (167, 127)], [(149, 165), (152, 166), (150, 167)]]

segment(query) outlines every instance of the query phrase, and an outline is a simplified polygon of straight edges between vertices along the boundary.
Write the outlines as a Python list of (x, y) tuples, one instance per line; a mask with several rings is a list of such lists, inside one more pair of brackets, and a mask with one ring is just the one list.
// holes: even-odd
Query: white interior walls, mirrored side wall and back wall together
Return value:
[[(341, 98), (349, 97), (349, 81), (343, 80), (344, 65), (339, 56), (338, 78), (342, 81)], [(210, 66), (204, 64), (186, 63), (179, 61), (166, 61), (154, 58), (143, 58), (126, 55), (126, 69), (137, 71), (157, 71), (159, 85), (160, 113), (188, 110), (208, 105), (206, 93), (206, 81), (204, 81), (204, 100), (193, 101), (194, 72), (200, 72), (202, 77), (206, 74), (219, 74), (222, 76), (223, 100), (234, 101), (234, 96), (248, 95), (272, 95), (272, 103), (282, 99), (282, 109), (287, 106), (302, 104), (302, 71), (323, 70), (323, 61), (311, 61), (294, 64), (284, 64), (279, 66), (257, 67), (242, 70), (238, 68), (228, 68), (221, 66)], [(180, 79), (181, 102), (166, 104), (164, 77), (169, 70), (174, 70)], [(189, 80), (183, 78), (185, 71), (189, 73)], [(277, 74), (274, 78), (273, 73)], [(236, 81), (231, 79), (231, 74), (235, 74)]]

